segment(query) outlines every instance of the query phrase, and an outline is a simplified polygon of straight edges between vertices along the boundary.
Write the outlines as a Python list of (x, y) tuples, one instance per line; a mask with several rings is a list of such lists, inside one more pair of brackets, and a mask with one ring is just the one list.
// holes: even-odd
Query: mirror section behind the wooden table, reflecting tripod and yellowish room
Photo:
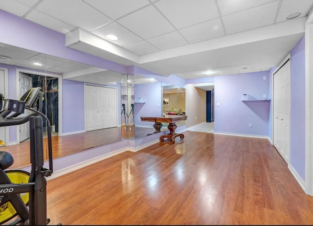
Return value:
[[(145, 116), (185, 115), (185, 89), (140, 75), (123, 75), (121, 80), (122, 137), (138, 139), (167, 130), (167, 123), (155, 128)], [(177, 126), (185, 125), (185, 121)]]

